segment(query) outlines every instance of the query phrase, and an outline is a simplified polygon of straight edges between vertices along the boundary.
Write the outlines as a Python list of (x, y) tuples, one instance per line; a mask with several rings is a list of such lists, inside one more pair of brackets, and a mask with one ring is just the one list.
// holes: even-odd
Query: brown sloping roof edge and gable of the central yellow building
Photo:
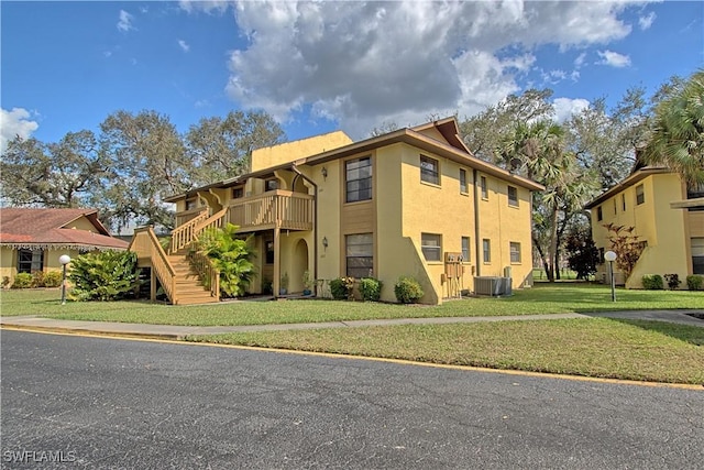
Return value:
[[(443, 140), (439, 140), (433, 136), (437, 131), (438, 135), (441, 135)], [(344, 159), (362, 152), (370, 152), (374, 149), (380, 149), (386, 145), (395, 143), (407, 143), (426, 152), (433, 153), (439, 156), (452, 160), (462, 165), (466, 165), (471, 168), (475, 168), (482, 173), (491, 176), (496, 176), (504, 181), (510, 182), (516, 186), (525, 187), (529, 190), (543, 190), (544, 186), (534, 182), (532, 179), (525, 178), (522, 176), (515, 175), (507, 170), (496, 166), (492, 163), (485, 162), (475, 157), (472, 152), (466, 147), (464, 142), (459, 135), (460, 130), (455, 118), (446, 118), (438, 121), (427, 122), (425, 124), (416, 125), (414, 128), (404, 128), (396, 131), (392, 131), (382, 135), (376, 135), (363, 141), (353, 142), (349, 145), (343, 145), (338, 149), (323, 151), (318, 154), (314, 154), (304, 159), (299, 159), (295, 162), (283, 163), (280, 165), (272, 166), (270, 168), (263, 168), (257, 172), (248, 173), (245, 175), (235, 176), (233, 178), (224, 179), (209, 185), (200, 186), (190, 189), (186, 193), (173, 195), (164, 198), (166, 203), (175, 203), (176, 200), (197, 194), (199, 190), (210, 188), (222, 188), (230, 185), (245, 182), (249, 178), (266, 177), (274, 174), (278, 170), (290, 170), (294, 166), (302, 165), (317, 165), (326, 163), (332, 160)]]

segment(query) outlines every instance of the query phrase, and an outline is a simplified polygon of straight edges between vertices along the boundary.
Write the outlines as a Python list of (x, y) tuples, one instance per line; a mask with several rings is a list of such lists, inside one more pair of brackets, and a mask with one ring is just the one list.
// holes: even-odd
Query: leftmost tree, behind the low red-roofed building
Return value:
[(0, 163), (3, 198), (14, 206), (79, 207), (108, 168), (90, 131), (69, 132), (50, 144), (16, 136)]

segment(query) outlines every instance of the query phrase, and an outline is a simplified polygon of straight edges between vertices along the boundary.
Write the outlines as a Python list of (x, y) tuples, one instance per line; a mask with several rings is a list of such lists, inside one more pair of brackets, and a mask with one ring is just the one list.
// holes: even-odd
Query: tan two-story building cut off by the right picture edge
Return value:
[[(642, 287), (644, 274), (704, 274), (704, 187), (693, 188), (663, 167), (637, 170), (586, 205), (592, 215), (592, 237), (600, 249), (610, 249), (607, 223), (634, 227), (645, 249), (628, 280), (614, 270), (619, 284)], [(606, 273), (602, 264), (600, 272)], [(597, 274), (598, 275), (598, 274)]]

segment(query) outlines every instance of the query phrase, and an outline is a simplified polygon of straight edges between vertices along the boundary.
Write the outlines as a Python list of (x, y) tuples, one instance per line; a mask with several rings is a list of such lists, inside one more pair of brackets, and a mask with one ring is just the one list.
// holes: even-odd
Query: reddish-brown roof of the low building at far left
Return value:
[[(95, 231), (70, 227), (85, 217)], [(0, 244), (18, 249), (127, 250), (129, 243), (110, 237), (96, 209), (0, 208)]]

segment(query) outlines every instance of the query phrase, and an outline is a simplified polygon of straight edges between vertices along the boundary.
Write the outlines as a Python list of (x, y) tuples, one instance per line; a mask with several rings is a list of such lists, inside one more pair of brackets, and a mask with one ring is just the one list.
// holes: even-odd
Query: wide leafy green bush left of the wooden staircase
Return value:
[(100, 251), (81, 254), (70, 262), (68, 275), (78, 300), (117, 300), (132, 297), (140, 286), (140, 270), (133, 251)]

